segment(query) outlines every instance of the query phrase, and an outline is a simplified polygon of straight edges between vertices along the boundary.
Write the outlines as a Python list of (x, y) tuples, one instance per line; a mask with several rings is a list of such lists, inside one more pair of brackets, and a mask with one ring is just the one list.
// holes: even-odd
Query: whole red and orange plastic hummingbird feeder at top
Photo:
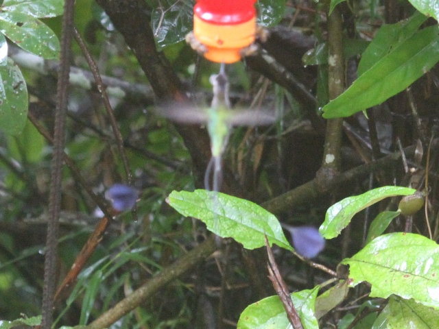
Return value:
[(256, 0), (198, 0), (193, 8), (193, 37), (212, 62), (233, 63), (254, 42)]

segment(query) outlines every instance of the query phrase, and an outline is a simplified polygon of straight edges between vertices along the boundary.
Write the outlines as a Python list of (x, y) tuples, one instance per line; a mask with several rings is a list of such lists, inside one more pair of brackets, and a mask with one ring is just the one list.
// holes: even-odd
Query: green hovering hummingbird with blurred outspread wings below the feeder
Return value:
[[(163, 108), (165, 117), (181, 123), (206, 123), (211, 138), (212, 158), (204, 174), (204, 188), (208, 191), (219, 191), (222, 179), (222, 155), (226, 149), (233, 126), (269, 125), (276, 121), (270, 112), (256, 110), (232, 110), (230, 106), (228, 77), (225, 65), (221, 64), (218, 74), (209, 78), (213, 86), (213, 99), (209, 108), (181, 108), (171, 106)], [(213, 173), (212, 189), (210, 178)]]

